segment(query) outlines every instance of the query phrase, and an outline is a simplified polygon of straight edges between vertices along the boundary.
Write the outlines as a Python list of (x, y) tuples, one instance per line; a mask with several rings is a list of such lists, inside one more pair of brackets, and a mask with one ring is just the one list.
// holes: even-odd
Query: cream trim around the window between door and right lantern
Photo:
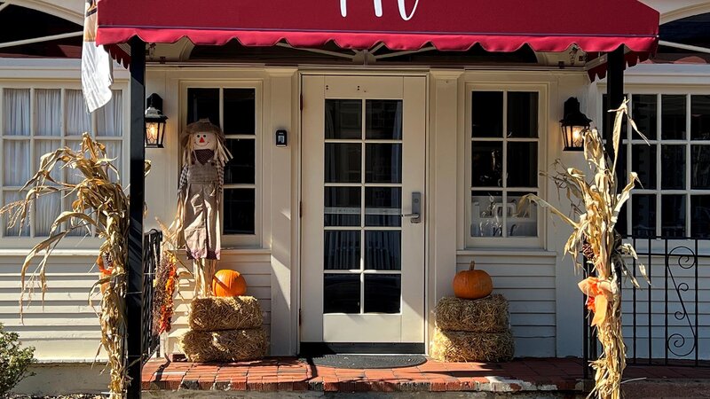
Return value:
[[(544, 83), (510, 83), (510, 82), (466, 82), (464, 85), (464, 129), (463, 131), (463, 159), (460, 162), (460, 186), (462, 188), (464, 204), (463, 242), (466, 249), (477, 248), (543, 248), (545, 244), (546, 218), (545, 213), (538, 207), (537, 237), (472, 237), (471, 231), (471, 93), (473, 91), (537, 91), (538, 94), (538, 165), (537, 171), (546, 164), (548, 143), (548, 84)], [(506, 104), (504, 102), (503, 106)], [(505, 116), (505, 109), (503, 115)], [(505, 120), (504, 120), (505, 123)], [(503, 162), (503, 174), (507, 171), (507, 161)], [(544, 198), (546, 184), (543, 178), (538, 177), (537, 192)], [(501, 188), (501, 191), (503, 189)]]

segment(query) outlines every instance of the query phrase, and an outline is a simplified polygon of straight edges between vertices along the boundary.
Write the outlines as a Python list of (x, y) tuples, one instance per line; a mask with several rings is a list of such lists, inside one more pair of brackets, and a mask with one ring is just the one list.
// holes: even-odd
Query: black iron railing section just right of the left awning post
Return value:
[(162, 232), (148, 231), (143, 237), (143, 362), (146, 362), (158, 351), (160, 335), (154, 333), (153, 328), (153, 294), (155, 270), (161, 262)]

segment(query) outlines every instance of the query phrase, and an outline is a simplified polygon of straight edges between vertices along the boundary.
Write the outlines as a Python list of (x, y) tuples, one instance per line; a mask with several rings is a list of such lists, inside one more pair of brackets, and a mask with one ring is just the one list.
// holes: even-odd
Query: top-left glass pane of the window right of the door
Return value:
[(503, 92), (471, 93), (471, 136), (503, 137)]

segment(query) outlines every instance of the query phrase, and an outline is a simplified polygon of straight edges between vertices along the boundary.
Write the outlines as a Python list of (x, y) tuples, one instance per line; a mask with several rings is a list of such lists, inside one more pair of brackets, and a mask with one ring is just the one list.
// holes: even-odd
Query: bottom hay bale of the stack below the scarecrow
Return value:
[(239, 362), (266, 356), (266, 332), (262, 328), (216, 332), (188, 331), (180, 348), (191, 362)]

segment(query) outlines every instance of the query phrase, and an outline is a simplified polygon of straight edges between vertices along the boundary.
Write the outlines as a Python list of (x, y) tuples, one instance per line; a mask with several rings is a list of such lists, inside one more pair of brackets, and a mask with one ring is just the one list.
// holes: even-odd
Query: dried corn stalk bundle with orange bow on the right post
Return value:
[[(584, 156), (594, 172), (593, 179), (587, 180), (583, 171), (577, 168), (565, 168), (557, 160), (556, 175), (548, 175), (560, 191), (566, 192), (572, 203), (572, 214), (568, 217), (540, 197), (528, 194), (521, 200), (521, 207), (529, 206), (533, 201), (540, 207), (548, 208), (565, 223), (572, 226), (572, 234), (564, 245), (564, 252), (572, 255), (575, 266), (580, 266), (578, 254), (583, 252), (588, 262), (594, 266), (594, 276), (580, 282), (580, 289), (588, 296), (587, 306), (593, 312), (591, 325), (596, 325), (599, 341), (604, 353), (591, 362), (596, 371), (595, 387), (589, 396), (599, 399), (620, 399), (621, 377), (626, 367), (626, 347), (621, 334), (621, 290), (619, 282), (627, 277), (638, 286), (633, 274), (627, 269), (624, 256), (638, 259), (634, 247), (623, 243), (619, 233), (614, 230), (621, 207), (628, 200), (638, 176), (635, 172), (628, 175), (628, 183), (619, 192), (617, 182), (617, 160), (621, 138), (621, 121), (627, 117), (629, 124), (636, 129), (634, 121), (628, 115), (627, 99), (615, 113), (613, 127), (613, 159), (604, 151), (602, 137), (596, 129), (584, 132)], [(645, 137), (643, 137), (645, 139)], [(645, 269), (639, 263), (645, 277)], [(622, 275), (622, 276), (619, 276)]]

